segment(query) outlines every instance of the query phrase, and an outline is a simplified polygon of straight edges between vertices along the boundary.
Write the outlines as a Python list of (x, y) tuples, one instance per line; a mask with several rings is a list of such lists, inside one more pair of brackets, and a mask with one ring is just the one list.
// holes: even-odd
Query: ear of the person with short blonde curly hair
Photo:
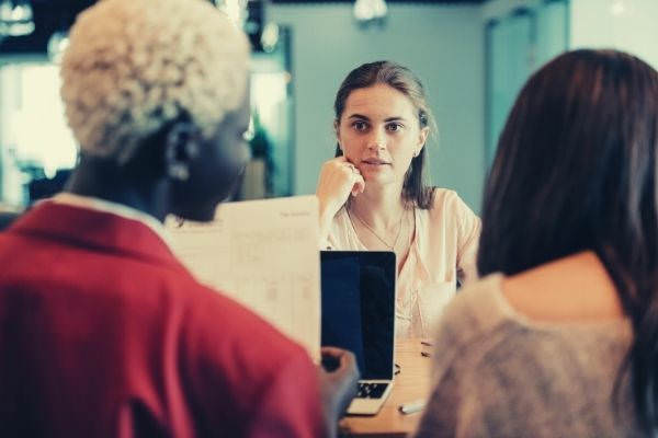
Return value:
[(190, 166), (198, 155), (198, 130), (189, 122), (177, 122), (164, 139), (164, 168), (174, 181), (188, 181)]

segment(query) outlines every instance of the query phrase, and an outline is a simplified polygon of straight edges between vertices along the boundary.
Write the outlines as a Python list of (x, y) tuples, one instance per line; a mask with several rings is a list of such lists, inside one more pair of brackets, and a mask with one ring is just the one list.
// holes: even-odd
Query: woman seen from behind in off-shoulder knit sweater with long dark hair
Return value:
[(654, 436), (658, 73), (577, 50), (519, 95), (419, 437)]

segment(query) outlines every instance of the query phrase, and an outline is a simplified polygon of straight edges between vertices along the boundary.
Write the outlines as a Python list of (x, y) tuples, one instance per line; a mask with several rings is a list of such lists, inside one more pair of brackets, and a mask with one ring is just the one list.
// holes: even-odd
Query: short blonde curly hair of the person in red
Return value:
[(86, 153), (122, 164), (185, 115), (215, 134), (247, 89), (249, 43), (204, 0), (102, 0), (61, 61), (66, 116)]

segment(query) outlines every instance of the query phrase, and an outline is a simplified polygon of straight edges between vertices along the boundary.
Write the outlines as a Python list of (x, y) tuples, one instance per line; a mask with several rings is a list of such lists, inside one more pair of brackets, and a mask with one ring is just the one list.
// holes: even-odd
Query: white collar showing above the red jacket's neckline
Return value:
[(92, 197), (76, 195), (73, 193), (63, 192), (50, 199), (54, 204), (68, 205), (71, 207), (86, 208), (89, 210), (109, 212), (122, 217), (124, 219), (135, 220), (147, 226), (152, 232), (155, 232), (162, 241), (171, 249), (171, 237), (164, 226), (151, 215), (140, 211), (136, 208), (128, 207), (124, 204), (113, 203), (110, 200)]

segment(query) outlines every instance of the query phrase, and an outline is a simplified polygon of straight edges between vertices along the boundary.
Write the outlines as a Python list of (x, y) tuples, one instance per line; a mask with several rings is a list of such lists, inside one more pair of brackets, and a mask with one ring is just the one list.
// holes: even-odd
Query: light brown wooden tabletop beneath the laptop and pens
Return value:
[(406, 437), (416, 429), (422, 411), (404, 415), (398, 406), (427, 399), (431, 390), (432, 359), (421, 356), (430, 347), (420, 339), (406, 339), (396, 344), (395, 361), (401, 367), (395, 377), (393, 391), (382, 411), (375, 416), (347, 416), (340, 422), (340, 434), (347, 437)]

